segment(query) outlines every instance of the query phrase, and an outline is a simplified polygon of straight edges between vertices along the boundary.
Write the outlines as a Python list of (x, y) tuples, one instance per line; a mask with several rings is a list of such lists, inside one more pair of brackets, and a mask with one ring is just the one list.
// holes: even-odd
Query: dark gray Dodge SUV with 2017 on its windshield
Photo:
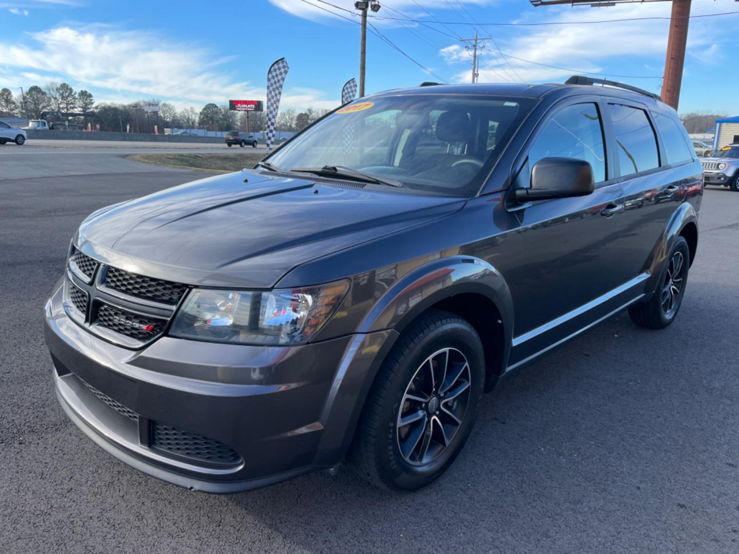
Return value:
[(418, 489), (504, 377), (622, 310), (675, 320), (702, 194), (677, 114), (630, 86), (361, 98), (251, 170), (87, 217), (45, 308), (58, 399), (186, 488), (347, 459)]

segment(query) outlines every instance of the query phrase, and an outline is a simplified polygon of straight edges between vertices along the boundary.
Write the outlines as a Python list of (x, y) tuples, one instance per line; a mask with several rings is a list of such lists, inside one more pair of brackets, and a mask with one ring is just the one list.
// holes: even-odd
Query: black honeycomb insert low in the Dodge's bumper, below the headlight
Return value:
[(241, 461), (232, 448), (170, 425), (154, 422), (151, 434), (151, 448), (169, 454), (212, 464), (234, 465)]

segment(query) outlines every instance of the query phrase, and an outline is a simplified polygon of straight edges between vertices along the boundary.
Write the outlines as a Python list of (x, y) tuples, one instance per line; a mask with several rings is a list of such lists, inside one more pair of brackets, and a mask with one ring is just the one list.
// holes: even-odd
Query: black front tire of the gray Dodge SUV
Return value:
[[(423, 368), (430, 369), (431, 373), (428, 375), (433, 376), (434, 366), (426, 364), (429, 360), (433, 364), (434, 360), (430, 357), (435, 353), (439, 355), (439, 352), (445, 350), (446, 358), (443, 358), (445, 368), (449, 366), (453, 368), (453, 371), (450, 370), (449, 377), (447, 377), (446, 369), (444, 369), (445, 377), (438, 379), (441, 383), (438, 391), (434, 388), (428, 397), (428, 402), (415, 408), (418, 409), (415, 413), (422, 414), (420, 417), (423, 418), (423, 422), (414, 425), (419, 425), (416, 429), (420, 429), (420, 425), (423, 425), (423, 429), (412, 432), (417, 433), (418, 438), (415, 441), (420, 445), (418, 451), (423, 451), (423, 457), (428, 461), (418, 459), (421, 456), (418, 454), (416, 462), (413, 463), (401, 453), (401, 434), (407, 431), (406, 437), (411, 435), (408, 428), (400, 425), (402, 410), (407, 409), (409, 403), (412, 402), (406, 398), (410, 394), (409, 391), (412, 391), (410, 387), (415, 383), (419, 372)], [(466, 373), (464, 369), (459, 370), (462, 358), (457, 358), (455, 365), (449, 363), (452, 356), (458, 355), (463, 355), (468, 363), (469, 370)], [(437, 367), (440, 368), (441, 363), (438, 363)], [(426, 369), (423, 371), (426, 372)], [(440, 371), (442, 370), (437, 369), (437, 372)], [(459, 380), (453, 377), (457, 371), (460, 375)], [(461, 376), (469, 378), (469, 386), (465, 387), (465, 379)], [(433, 377), (430, 377), (429, 381), (432, 379)], [(445, 394), (445, 383), (449, 380), (451, 382), (446, 385), (448, 396), (446, 400), (441, 400)], [(432, 310), (421, 315), (403, 332), (401, 338), (398, 338), (398, 343), (393, 346), (375, 382), (372, 383), (372, 389), (369, 391), (350, 450), (351, 464), (359, 475), (378, 488), (409, 491), (429, 485), (446, 471), (446, 468), (449, 468), (469, 437), (477, 414), (477, 406), (480, 404), (480, 396), (483, 393), (484, 381), (483, 346), (474, 328), (463, 318), (449, 312)], [(412, 393), (416, 394), (415, 390)], [(435, 404), (433, 404), (434, 399), (436, 399)], [(460, 405), (460, 402), (464, 403), (465, 399), (466, 405)], [(444, 405), (449, 402), (452, 404)], [(432, 406), (436, 407), (432, 408)], [(432, 412), (434, 409), (437, 411)], [(445, 432), (446, 423), (441, 420), (443, 418), (446, 422), (451, 421), (449, 420), (450, 410), (456, 412), (454, 419), (459, 423), (451, 426), (452, 431)], [(429, 437), (428, 441), (426, 437)], [(432, 437), (436, 437), (437, 440), (433, 440)], [(446, 447), (441, 445), (440, 437), (443, 437), (443, 442), (448, 444)], [(410, 442), (412, 440), (406, 440), (406, 445)], [(433, 449), (430, 446), (432, 442)], [(424, 445), (426, 446), (425, 451), (423, 450)], [(415, 446), (411, 448), (411, 456), (414, 455), (415, 448)], [(429, 451), (432, 451), (431, 455)]]

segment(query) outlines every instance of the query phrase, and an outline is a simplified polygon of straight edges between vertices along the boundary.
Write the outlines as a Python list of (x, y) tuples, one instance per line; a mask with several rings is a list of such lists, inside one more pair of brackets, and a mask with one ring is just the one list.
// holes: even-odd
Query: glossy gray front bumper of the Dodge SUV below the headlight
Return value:
[[(56, 394), (70, 419), (134, 468), (211, 493), (340, 462), (369, 383), (397, 336), (386, 330), (289, 347), (163, 337), (131, 350), (75, 324), (61, 297), (58, 287), (44, 327)], [(236, 454), (228, 463), (180, 456), (177, 445), (157, 446), (157, 428)]]

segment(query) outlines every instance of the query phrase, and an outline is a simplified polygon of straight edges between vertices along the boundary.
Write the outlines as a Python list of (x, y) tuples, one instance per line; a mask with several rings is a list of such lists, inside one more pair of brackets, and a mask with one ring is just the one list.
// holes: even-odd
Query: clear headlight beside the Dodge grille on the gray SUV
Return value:
[(348, 281), (300, 289), (193, 289), (169, 335), (196, 341), (282, 345), (307, 342), (333, 315)]

